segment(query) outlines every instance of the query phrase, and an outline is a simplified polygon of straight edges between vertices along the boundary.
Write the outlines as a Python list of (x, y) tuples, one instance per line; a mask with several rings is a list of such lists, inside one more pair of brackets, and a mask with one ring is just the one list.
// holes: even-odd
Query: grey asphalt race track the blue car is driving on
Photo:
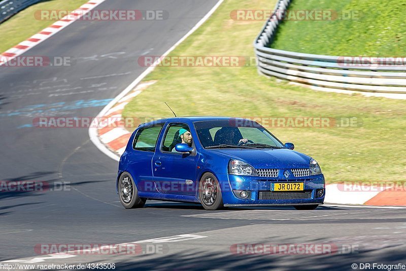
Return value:
[[(143, 209), (125, 210), (115, 193), (117, 162), (90, 142), (87, 128), (30, 127), (41, 116), (96, 116), (146, 69), (138, 65), (139, 56), (165, 52), (216, 2), (108, 0), (97, 9), (165, 10), (170, 18), (76, 21), (25, 53), (71, 56), (72, 66), (0, 67), (0, 180), (70, 183), (66, 191), (0, 193), (0, 260), (43, 257), (34, 250), (36, 244), (120, 244), (194, 234), (143, 243), (164, 244), (164, 253), (77, 255), (42, 263), (105, 262), (119, 270), (406, 264), (406, 209), (325, 206), (315, 211), (283, 207), (207, 212), (198, 205), (148, 201)], [(232, 253), (230, 247), (240, 243), (333, 243), (353, 245), (357, 251)]]

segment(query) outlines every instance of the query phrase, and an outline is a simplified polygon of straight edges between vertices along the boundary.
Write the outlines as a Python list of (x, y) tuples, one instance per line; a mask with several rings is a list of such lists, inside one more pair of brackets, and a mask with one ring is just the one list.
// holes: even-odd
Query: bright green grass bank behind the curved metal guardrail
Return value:
[[(354, 20), (285, 20), (272, 48), (349, 56), (403, 56), (406, 3), (397, 0), (293, 0), (289, 10), (358, 12)], [(354, 13), (355, 14), (355, 13)]]

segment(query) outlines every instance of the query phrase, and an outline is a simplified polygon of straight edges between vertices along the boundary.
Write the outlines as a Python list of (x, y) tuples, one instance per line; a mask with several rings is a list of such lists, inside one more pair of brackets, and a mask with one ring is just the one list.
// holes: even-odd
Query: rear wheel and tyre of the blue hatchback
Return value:
[(120, 176), (118, 194), (125, 209), (140, 208), (145, 204), (145, 199), (138, 196), (137, 186), (128, 172), (123, 172)]

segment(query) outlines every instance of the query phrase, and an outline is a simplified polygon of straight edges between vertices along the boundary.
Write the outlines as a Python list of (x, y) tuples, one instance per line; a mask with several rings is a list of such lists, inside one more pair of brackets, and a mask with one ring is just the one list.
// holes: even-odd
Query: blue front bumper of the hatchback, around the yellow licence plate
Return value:
[[(291, 179), (267, 178), (258, 176), (236, 176), (221, 174), (217, 176), (222, 190), (225, 206), (282, 206), (323, 204), (325, 181), (323, 174)], [(304, 183), (303, 191), (271, 191), (272, 183)], [(317, 191), (323, 189), (323, 195)], [(241, 198), (240, 192), (248, 191), (247, 198)]]

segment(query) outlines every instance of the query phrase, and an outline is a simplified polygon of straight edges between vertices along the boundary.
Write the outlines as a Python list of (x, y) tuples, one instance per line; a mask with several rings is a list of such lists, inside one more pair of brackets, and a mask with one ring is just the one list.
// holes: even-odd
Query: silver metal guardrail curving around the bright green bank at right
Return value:
[[(275, 11), (280, 14), (287, 9), (290, 2), (291, 0), (279, 0)], [(260, 73), (318, 89), (406, 93), (404, 63), (382, 65), (380, 63), (387, 63), (388, 59), (381, 57), (364, 58), (360, 65), (346, 66), (347, 62), (343, 56), (305, 54), (269, 48), (282, 20), (283, 18), (274, 12), (254, 41)]]

